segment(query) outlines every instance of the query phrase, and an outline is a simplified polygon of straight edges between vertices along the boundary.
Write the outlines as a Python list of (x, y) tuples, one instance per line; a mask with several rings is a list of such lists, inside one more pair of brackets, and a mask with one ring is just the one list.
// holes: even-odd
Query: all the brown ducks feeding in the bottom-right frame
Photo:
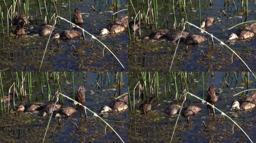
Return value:
[[(216, 96), (215, 89), (213, 85), (210, 85), (207, 89), (207, 102), (214, 103), (218, 100), (218, 96)], [(140, 104), (140, 111), (146, 114), (151, 110), (151, 104), (156, 99), (155, 96), (150, 97), (149, 99), (146, 99)], [(252, 109), (256, 106), (256, 93), (252, 96), (249, 96), (247, 98), (241, 99), (241, 101), (234, 101), (232, 103), (230, 111), (244, 111), (247, 109)], [(170, 105), (166, 110), (165, 114), (167, 115), (174, 115), (181, 111), (181, 114), (184, 116), (190, 116), (195, 115), (198, 113), (202, 108), (196, 107), (196, 106), (188, 106), (181, 108), (178, 104)]]

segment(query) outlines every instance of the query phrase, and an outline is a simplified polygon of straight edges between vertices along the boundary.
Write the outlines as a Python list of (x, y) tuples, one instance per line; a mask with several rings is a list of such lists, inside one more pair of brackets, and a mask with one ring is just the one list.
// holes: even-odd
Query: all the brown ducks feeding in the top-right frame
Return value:
[[(201, 22), (201, 28), (208, 28), (214, 23), (213, 17), (207, 17), (202, 20)], [(129, 27), (131, 31), (136, 31), (138, 29), (138, 21), (131, 21), (129, 23)], [(145, 36), (144, 39), (160, 39), (160, 38), (167, 38), (171, 42), (177, 42), (180, 38), (181, 32), (172, 32), (168, 29), (162, 29), (158, 31), (151, 32), (149, 35)], [(248, 38), (253, 37), (256, 34), (256, 23), (252, 23), (249, 26), (244, 26), (240, 28), (236, 33), (231, 33), (228, 37), (229, 40), (232, 39), (238, 39), (238, 40), (245, 40)], [(207, 41), (207, 38), (195, 35), (195, 34), (189, 34), (188, 32), (183, 31), (180, 41), (185, 41), (186, 44), (199, 44), (202, 42)]]

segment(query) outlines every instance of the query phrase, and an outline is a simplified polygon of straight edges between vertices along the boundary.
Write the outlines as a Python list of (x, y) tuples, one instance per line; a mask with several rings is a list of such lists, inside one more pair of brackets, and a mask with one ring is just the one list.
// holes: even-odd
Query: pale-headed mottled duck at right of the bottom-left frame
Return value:
[(128, 108), (128, 100), (126, 101), (126, 96), (125, 96), (124, 99), (116, 99), (116, 100), (112, 101), (109, 104), (109, 106), (104, 105), (103, 107), (101, 107), (100, 112), (101, 113), (120, 112), (120, 111), (124, 111), (127, 108)]

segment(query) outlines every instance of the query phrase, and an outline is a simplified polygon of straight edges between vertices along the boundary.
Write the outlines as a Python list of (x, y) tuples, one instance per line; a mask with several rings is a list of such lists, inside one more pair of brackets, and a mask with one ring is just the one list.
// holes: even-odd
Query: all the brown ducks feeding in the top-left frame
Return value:
[[(33, 19), (31, 17), (29, 17), (29, 22), (32, 22), (32, 21), (33, 21)], [(83, 18), (82, 18), (82, 14), (81, 14), (81, 11), (79, 8), (74, 9), (72, 22), (79, 26), (82, 25)], [(16, 35), (24, 35), (24, 34), (29, 33), (29, 32), (25, 32), (25, 30), (24, 30), (24, 26), (27, 24), (27, 16), (26, 15), (22, 14), (21, 16), (19, 16), (19, 18), (16, 19), (13, 24), (17, 25), (16, 29), (15, 29)], [(109, 23), (107, 28), (103, 28), (100, 31), (100, 35), (119, 34), (123, 31), (125, 31), (127, 29), (127, 26), (128, 26), (128, 16), (125, 16), (121, 20), (116, 20), (116, 21)], [(49, 35), (51, 33), (52, 28), (55, 29), (56, 27), (57, 27), (57, 24), (56, 25), (44, 25), (39, 29), (38, 34), (40, 36)], [(73, 27), (74, 27), (74, 29), (76, 29), (76, 26), (73, 26)], [(63, 40), (67, 40), (67, 39), (71, 39), (71, 38), (74, 38), (77, 36), (80, 36), (80, 33), (78, 31), (64, 30), (60, 34), (55, 33), (52, 38), (53, 39), (60, 38)]]

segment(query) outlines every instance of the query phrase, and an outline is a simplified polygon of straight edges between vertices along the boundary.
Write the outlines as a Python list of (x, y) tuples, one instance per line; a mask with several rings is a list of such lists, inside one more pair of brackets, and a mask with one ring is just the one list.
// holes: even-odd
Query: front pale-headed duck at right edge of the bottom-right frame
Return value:
[(247, 109), (252, 109), (253, 107), (255, 107), (255, 104), (251, 101), (240, 101), (240, 103), (238, 101), (234, 101), (232, 103), (231, 109), (230, 111), (244, 111)]

